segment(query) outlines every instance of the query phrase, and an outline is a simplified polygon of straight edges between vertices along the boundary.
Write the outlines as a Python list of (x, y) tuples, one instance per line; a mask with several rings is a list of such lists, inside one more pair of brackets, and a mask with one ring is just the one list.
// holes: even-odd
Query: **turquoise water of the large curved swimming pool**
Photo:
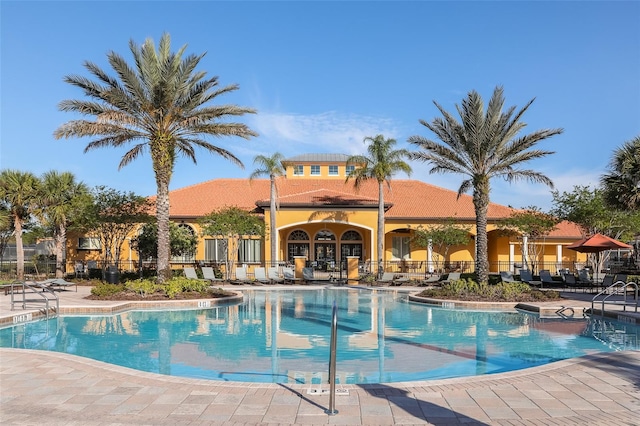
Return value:
[(442, 309), (394, 291), (245, 292), (210, 309), (62, 316), (0, 329), (0, 346), (65, 352), (142, 371), (246, 382), (388, 383), (490, 374), (639, 349), (640, 328), (518, 312)]

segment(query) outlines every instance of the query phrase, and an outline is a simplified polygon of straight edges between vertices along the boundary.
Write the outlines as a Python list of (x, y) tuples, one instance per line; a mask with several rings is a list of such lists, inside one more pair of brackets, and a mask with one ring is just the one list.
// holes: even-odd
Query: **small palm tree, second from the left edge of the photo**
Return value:
[(90, 198), (89, 188), (76, 182), (70, 172), (59, 173), (51, 170), (42, 175), (40, 187), (39, 216), (53, 227), (56, 245), (56, 278), (66, 272), (63, 260), (67, 241), (67, 227), (72, 223), (74, 213), (81, 211), (80, 205)]

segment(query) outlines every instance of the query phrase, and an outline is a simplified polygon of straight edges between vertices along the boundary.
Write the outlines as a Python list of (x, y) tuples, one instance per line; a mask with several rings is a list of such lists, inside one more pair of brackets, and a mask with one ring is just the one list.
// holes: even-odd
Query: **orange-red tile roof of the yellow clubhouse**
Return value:
[[(278, 179), (280, 206), (337, 205), (374, 208), (378, 204), (378, 183), (365, 181), (359, 191), (353, 182), (340, 179)], [(257, 205), (269, 205), (268, 179), (214, 179), (171, 191), (172, 217), (199, 217), (226, 206), (255, 210)], [(446, 219), (475, 220), (470, 195), (457, 198), (457, 192), (417, 180), (392, 180), (384, 184), (384, 201), (388, 207), (386, 219)], [(489, 204), (488, 219), (507, 217), (513, 209)], [(551, 233), (556, 238), (580, 238), (580, 229), (573, 223), (562, 222)]]

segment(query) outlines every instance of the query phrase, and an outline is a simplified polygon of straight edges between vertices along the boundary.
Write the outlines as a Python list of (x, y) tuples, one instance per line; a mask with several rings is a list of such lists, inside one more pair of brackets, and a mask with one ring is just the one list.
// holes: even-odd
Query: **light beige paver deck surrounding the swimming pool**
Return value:
[[(119, 309), (118, 303), (84, 299), (88, 292), (60, 292), (61, 313)], [(532, 309), (591, 307), (589, 295), (565, 296), (560, 304)], [(0, 319), (37, 313), (11, 311), (9, 297), (0, 294)], [(335, 397), (336, 415), (326, 413), (329, 395), (320, 388), (328, 385), (187, 379), (55, 352), (0, 348), (3, 425), (639, 425), (640, 351), (486, 376), (340, 385), (348, 395)]]

